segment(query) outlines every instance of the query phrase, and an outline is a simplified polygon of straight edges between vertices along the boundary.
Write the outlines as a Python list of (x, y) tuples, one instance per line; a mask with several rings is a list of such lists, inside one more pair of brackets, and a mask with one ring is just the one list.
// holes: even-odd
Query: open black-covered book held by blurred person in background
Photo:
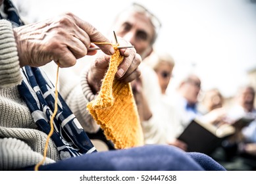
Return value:
[(188, 152), (211, 154), (224, 139), (234, 135), (236, 128), (229, 124), (215, 126), (192, 120), (178, 137), (188, 145)]

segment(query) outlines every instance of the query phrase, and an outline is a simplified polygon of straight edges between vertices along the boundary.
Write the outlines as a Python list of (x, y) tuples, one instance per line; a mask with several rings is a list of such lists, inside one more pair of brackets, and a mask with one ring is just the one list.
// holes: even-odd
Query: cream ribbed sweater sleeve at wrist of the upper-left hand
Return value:
[(20, 84), (20, 64), (13, 28), (7, 20), (0, 20), (0, 89)]

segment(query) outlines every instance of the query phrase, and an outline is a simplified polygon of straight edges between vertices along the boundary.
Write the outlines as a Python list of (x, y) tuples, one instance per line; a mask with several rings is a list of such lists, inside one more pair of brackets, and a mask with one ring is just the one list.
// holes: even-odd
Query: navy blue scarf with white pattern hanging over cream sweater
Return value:
[[(49, 134), (49, 124), (54, 111), (55, 87), (39, 68), (24, 66), (23, 81), (18, 86), (38, 128)], [(59, 150), (61, 159), (89, 154), (97, 150), (70, 108), (58, 95), (58, 111), (54, 118), (54, 133), (51, 139)]]

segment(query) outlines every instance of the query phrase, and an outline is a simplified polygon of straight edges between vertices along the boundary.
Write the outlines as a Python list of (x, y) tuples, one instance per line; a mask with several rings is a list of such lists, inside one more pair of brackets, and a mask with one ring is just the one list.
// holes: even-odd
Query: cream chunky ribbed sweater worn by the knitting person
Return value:
[[(43, 158), (47, 135), (37, 129), (30, 110), (18, 93), (17, 85), (21, 81), (13, 29), (7, 20), (0, 20), (0, 170), (18, 170), (37, 164)], [(85, 95), (77, 101), (93, 97), (86, 81), (79, 88)], [(67, 92), (63, 95), (65, 99), (70, 90), (68, 87), (64, 89), (62, 95)], [(88, 103), (88, 100), (81, 103)], [(45, 164), (59, 159), (59, 152), (50, 141)]]

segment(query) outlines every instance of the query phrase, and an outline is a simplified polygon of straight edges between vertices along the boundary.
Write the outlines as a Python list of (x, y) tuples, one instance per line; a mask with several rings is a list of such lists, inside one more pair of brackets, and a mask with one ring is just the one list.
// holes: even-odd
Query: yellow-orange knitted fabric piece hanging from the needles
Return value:
[(115, 79), (118, 65), (123, 57), (118, 49), (112, 55), (109, 69), (102, 81), (99, 95), (87, 104), (91, 115), (111, 139), (116, 149), (143, 145), (140, 118), (130, 83)]

